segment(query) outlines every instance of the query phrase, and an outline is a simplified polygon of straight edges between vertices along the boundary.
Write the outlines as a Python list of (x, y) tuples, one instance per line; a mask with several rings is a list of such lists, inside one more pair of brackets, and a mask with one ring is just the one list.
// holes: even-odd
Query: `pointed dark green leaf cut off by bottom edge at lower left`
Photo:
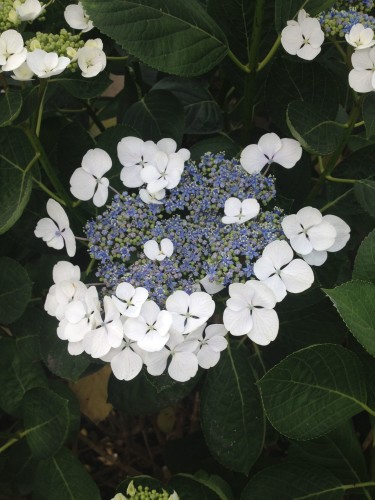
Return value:
[(98, 487), (69, 450), (39, 463), (34, 483), (38, 500), (100, 500)]

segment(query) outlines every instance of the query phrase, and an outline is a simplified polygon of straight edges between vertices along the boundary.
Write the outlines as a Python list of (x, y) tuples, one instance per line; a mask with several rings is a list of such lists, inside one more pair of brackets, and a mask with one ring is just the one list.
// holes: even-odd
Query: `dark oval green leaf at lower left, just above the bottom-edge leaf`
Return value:
[(23, 400), (27, 442), (35, 458), (48, 458), (65, 443), (70, 428), (69, 401), (46, 388), (28, 391)]

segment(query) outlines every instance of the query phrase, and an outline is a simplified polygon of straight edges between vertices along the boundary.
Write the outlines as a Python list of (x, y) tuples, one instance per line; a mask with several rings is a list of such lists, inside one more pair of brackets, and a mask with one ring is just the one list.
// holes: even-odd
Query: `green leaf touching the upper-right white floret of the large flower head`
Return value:
[(286, 120), (293, 137), (311, 154), (331, 154), (342, 139), (344, 129), (306, 102), (291, 102)]

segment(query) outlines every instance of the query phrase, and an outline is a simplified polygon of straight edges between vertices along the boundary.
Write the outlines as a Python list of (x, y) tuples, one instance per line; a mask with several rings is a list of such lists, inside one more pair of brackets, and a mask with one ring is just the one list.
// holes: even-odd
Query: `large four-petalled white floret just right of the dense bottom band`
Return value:
[(273, 309), (276, 297), (260, 281), (232, 283), (229, 285), (227, 307), (223, 322), (232, 335), (247, 335), (259, 345), (268, 345), (279, 331), (279, 318)]

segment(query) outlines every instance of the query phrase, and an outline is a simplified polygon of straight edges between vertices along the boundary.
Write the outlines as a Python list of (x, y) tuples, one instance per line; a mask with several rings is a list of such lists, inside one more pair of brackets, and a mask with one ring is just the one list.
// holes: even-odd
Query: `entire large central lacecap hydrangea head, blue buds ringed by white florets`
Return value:
[[(121, 193), (110, 184), (112, 158), (100, 148), (84, 155), (70, 179), (72, 194), (100, 209), (84, 227), (100, 285), (83, 283), (79, 267), (61, 261), (45, 309), (70, 354), (109, 362), (119, 380), (145, 367), (185, 382), (219, 362), (228, 332), (269, 344), (279, 329), (277, 303), (307, 290), (310, 265), (349, 238), (338, 217), (277, 206), (267, 171), (298, 163), (294, 139), (264, 134), (240, 160), (206, 153), (191, 161), (168, 138), (125, 137), (117, 153)], [(51, 219), (39, 221), (35, 235), (73, 257), (65, 211), (54, 200), (47, 211)], [(223, 315), (216, 297), (226, 303)]]

